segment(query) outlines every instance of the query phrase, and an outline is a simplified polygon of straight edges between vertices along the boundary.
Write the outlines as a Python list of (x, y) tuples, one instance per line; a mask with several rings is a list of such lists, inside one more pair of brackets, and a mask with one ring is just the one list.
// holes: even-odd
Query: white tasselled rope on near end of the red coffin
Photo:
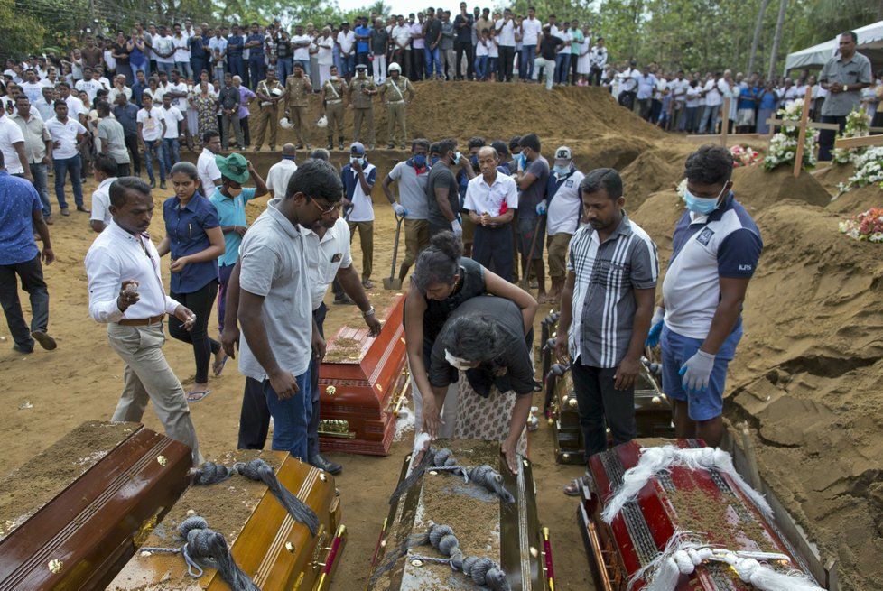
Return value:
[(743, 582), (760, 591), (822, 591), (822, 587), (799, 570), (791, 569), (787, 573), (774, 570), (768, 564), (770, 560), (791, 562), (786, 554), (777, 552), (712, 548), (699, 543), (692, 532), (675, 531), (665, 549), (629, 579), (627, 588), (630, 591), (638, 580), (649, 577), (645, 591), (674, 591), (681, 575), (692, 574), (704, 562), (723, 562), (730, 565)]

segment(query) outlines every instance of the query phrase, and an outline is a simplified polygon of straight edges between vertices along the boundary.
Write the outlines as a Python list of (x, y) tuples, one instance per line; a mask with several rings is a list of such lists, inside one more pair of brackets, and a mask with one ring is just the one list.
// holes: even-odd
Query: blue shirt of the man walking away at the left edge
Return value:
[(33, 212), (41, 210), (40, 196), (30, 182), (0, 171), (0, 264), (24, 263), (40, 254), (31, 220)]

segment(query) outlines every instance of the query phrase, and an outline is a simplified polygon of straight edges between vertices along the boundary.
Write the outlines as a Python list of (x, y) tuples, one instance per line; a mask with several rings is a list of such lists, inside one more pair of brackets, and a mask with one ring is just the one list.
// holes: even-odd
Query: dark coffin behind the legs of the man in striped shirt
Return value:
[[(555, 461), (559, 464), (583, 464), (585, 442), (571, 372), (558, 365), (557, 370), (548, 374), (545, 387), (550, 389), (547, 395), (550, 400)], [(674, 436), (671, 402), (660, 392), (646, 365), (641, 365), (641, 373), (635, 384), (635, 423), (637, 437)]]

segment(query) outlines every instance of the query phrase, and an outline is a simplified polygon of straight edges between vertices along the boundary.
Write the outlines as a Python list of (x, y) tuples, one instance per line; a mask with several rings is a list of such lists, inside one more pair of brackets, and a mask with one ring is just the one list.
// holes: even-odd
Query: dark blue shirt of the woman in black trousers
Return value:
[[(170, 197), (163, 202), (165, 232), (169, 236), (172, 260), (188, 254), (201, 253), (209, 248), (206, 230), (218, 227), (218, 211), (199, 193), (181, 209), (181, 199)], [(181, 272), (172, 273), (172, 293), (200, 291), (210, 281), (218, 279), (218, 261), (190, 263)]]

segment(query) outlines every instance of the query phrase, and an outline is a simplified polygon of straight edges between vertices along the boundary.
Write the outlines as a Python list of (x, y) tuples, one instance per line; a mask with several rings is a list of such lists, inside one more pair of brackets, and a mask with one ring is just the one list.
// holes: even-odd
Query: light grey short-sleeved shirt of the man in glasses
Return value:
[[(301, 375), (310, 367), (312, 309), (305, 234), (277, 208), (248, 228), (239, 248), (241, 289), (263, 296), (264, 328), (283, 370)], [(267, 377), (246, 338), (240, 341), (239, 372), (262, 382)]]

